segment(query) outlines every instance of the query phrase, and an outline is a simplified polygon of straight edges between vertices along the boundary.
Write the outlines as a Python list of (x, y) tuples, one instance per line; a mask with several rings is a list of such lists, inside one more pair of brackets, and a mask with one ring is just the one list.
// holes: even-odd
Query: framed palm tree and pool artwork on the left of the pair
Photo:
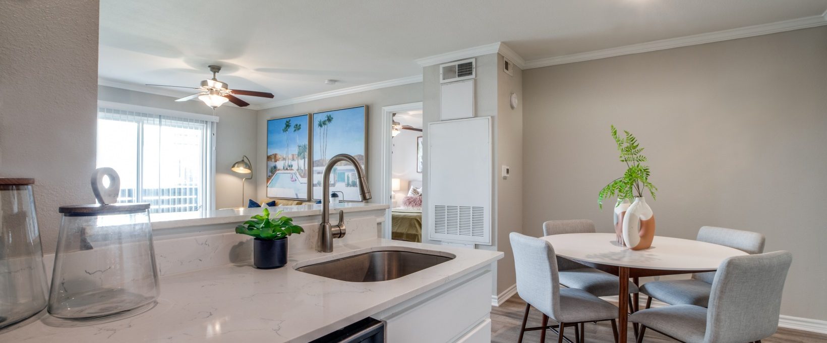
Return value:
[(267, 121), (267, 197), (308, 199), (310, 115)]

